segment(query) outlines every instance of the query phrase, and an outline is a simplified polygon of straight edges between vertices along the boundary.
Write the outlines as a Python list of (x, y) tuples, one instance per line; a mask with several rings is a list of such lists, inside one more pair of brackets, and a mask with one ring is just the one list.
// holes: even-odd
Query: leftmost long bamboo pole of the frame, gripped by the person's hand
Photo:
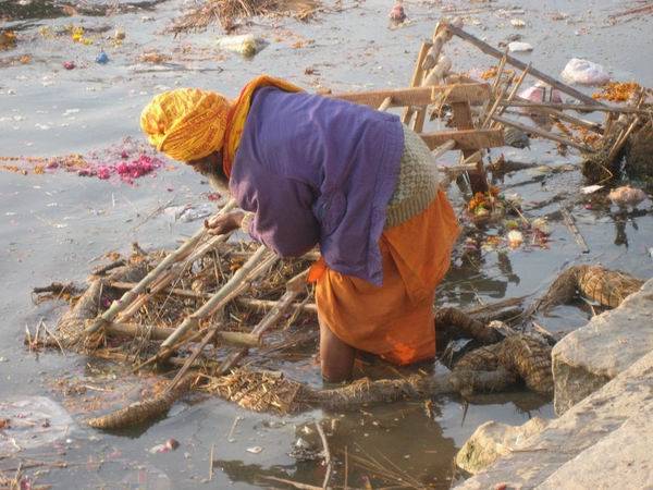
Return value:
[[(218, 216), (224, 215), (236, 206), (236, 201), (234, 199), (230, 199), (224, 207), (218, 212)], [(102, 324), (107, 321), (113, 320), (118, 314), (126, 309), (137, 297), (139, 294), (146, 291), (146, 289), (159, 278), (159, 275), (165, 271), (173, 264), (182, 260), (188, 254), (193, 252), (193, 248), (207, 235), (207, 231), (202, 225), (201, 229), (195, 232), (195, 234), (188, 238), (181, 247), (176, 250), (168, 255), (163, 260), (161, 260), (157, 267), (155, 267), (145, 278), (143, 278), (136, 287), (132, 291), (127, 291), (122, 297), (113, 302), (113, 304), (99, 317), (97, 318), (88, 328), (86, 328), (85, 333), (90, 334), (97, 332)]]

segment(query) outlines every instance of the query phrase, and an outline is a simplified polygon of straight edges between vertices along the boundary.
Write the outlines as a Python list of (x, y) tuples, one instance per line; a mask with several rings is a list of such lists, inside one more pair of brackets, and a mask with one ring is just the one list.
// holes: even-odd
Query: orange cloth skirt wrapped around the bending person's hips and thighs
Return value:
[(320, 320), (359, 351), (405, 365), (435, 356), (433, 302), (446, 273), (458, 223), (440, 191), (429, 208), (383, 232), (383, 285), (329, 269), (311, 270)]

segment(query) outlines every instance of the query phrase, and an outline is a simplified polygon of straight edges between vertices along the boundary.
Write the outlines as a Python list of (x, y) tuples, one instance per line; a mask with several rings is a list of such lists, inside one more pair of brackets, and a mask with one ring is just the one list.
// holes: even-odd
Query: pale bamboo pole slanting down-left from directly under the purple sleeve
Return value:
[[(268, 255), (266, 257), (266, 255)], [(165, 348), (180, 340), (188, 330), (197, 326), (197, 322), (206, 317), (213, 315), (219, 308), (223, 307), (229, 301), (241, 293), (242, 285), (245, 281), (252, 279), (256, 272), (260, 273), (268, 266), (271, 266), (278, 257), (271, 254), (264, 245), (261, 245), (254, 255), (243, 265), (241, 269), (232, 275), (208, 302), (206, 302), (197, 311), (188, 316), (174, 332), (163, 341), (161, 348)]]

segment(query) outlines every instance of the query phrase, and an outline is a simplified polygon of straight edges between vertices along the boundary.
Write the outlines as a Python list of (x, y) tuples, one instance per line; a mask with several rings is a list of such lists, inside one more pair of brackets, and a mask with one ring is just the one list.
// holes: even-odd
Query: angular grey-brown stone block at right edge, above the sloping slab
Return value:
[(653, 279), (611, 311), (593, 317), (552, 351), (555, 412), (564, 414), (653, 351)]

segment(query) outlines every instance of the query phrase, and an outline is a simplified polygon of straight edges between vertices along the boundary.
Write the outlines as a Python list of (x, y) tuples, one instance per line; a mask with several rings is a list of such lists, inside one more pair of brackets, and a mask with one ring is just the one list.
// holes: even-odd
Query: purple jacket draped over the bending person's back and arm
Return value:
[(284, 257), (316, 244), (326, 265), (375, 285), (379, 238), (404, 150), (396, 115), (274, 87), (254, 95), (230, 179), (250, 235)]

